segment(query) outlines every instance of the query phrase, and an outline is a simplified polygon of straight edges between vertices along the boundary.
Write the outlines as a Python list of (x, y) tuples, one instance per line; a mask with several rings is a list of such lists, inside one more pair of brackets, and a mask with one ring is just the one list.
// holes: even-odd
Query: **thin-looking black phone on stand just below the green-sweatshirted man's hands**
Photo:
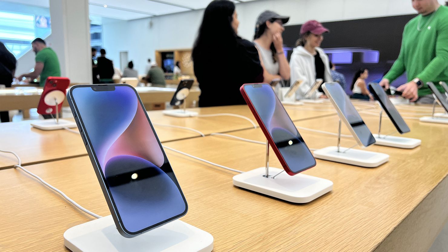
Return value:
[(398, 132), (400, 132), (401, 134), (409, 132), (410, 129), (408, 127), (408, 124), (406, 124), (405, 120), (403, 120), (403, 117), (401, 117), (400, 113), (396, 110), (395, 106), (389, 100), (386, 92), (384, 92), (383, 90), (383, 87), (378, 83), (370, 83), (370, 89), (375, 98), (379, 101), (379, 104), (381, 104), (381, 107), (383, 107), (383, 110), (386, 111), (389, 118), (392, 120), (392, 123), (395, 125), (395, 128), (398, 130)]

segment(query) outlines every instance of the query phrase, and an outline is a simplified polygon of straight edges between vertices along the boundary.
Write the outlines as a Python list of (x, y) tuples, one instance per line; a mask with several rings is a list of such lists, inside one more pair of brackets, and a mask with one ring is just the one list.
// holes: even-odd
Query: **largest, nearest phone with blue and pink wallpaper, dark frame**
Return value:
[(134, 235), (185, 215), (187, 202), (136, 91), (108, 86), (74, 86), (70, 96), (116, 214)]

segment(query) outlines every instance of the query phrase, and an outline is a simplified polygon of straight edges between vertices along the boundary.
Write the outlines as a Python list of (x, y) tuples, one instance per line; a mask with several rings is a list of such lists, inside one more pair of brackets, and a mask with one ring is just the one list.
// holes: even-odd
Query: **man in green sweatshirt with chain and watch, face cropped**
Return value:
[(406, 24), (400, 55), (379, 84), (388, 89), (406, 72), (408, 83), (397, 88), (402, 96), (411, 102), (433, 103), (426, 82), (448, 81), (448, 7), (438, 0), (412, 0), (412, 6), (419, 15)]

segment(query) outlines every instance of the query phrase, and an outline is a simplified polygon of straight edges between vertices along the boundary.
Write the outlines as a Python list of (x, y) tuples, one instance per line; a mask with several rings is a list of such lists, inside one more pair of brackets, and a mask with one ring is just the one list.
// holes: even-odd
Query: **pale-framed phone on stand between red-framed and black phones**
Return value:
[(342, 113), (343, 118), (341, 120), (347, 124), (347, 127), (352, 129), (352, 133), (355, 135), (354, 137), (358, 143), (364, 146), (374, 144), (375, 137), (372, 136), (369, 128), (367, 128), (358, 111), (353, 107), (340, 84), (337, 82), (326, 82), (323, 84), (323, 91), (330, 98), (336, 109)]

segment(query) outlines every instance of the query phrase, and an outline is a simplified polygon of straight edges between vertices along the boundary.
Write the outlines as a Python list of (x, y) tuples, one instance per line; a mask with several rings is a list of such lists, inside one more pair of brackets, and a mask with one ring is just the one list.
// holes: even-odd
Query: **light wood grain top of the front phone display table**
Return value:
[[(377, 116), (362, 117), (375, 131)], [(384, 131), (392, 131), (392, 124), (383, 121)], [(220, 252), (374, 251), (437, 191), (448, 174), (448, 144), (441, 137), (448, 125), (406, 121), (411, 128), (406, 137), (422, 139), (421, 146), (410, 150), (370, 146), (367, 150), (391, 155), (389, 162), (377, 168), (317, 160), (316, 167), (304, 173), (330, 179), (334, 187), (308, 204), (291, 204), (234, 187), (234, 172), (167, 150), (190, 206), (182, 220), (211, 233), (214, 251)], [(337, 122), (336, 116), (327, 116), (296, 125), (336, 132)], [(334, 136), (299, 131), (310, 148), (336, 144)], [(345, 127), (343, 133), (348, 134)], [(264, 140), (259, 128), (231, 134)], [(343, 146), (353, 144), (353, 139), (342, 140)], [(197, 137), (164, 145), (241, 171), (264, 166), (264, 145), (226, 137)], [(280, 167), (274, 155), (270, 161), (272, 167)], [(87, 209), (100, 215), (109, 213), (87, 157), (27, 168)], [(0, 183), (0, 251), (67, 251), (64, 231), (92, 219), (22, 171), (0, 171)], [(446, 219), (442, 214), (439, 218)], [(420, 239), (431, 240), (430, 236)]]

